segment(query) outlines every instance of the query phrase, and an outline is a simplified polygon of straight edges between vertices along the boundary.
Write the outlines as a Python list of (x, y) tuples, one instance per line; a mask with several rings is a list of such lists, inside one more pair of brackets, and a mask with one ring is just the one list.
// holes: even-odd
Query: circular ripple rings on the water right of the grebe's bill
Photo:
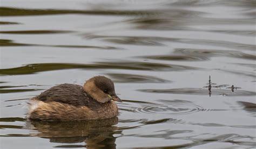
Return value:
[(201, 106), (187, 104), (145, 105), (136, 109), (137, 112), (148, 114), (187, 114), (202, 110)]

